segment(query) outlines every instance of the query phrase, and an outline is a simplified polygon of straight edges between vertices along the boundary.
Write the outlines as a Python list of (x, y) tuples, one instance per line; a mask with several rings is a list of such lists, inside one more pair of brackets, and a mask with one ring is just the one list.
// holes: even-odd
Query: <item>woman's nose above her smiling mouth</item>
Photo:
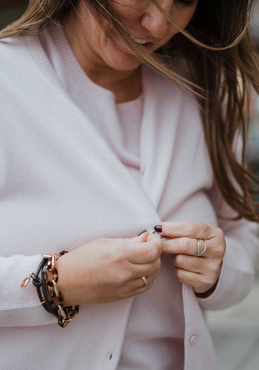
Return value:
[[(172, 9), (172, 1), (164, 1), (163, 3), (163, 5), (161, 4), (162, 8), (170, 13)], [(148, 30), (150, 36), (161, 39), (167, 35), (170, 23), (157, 9), (155, 4), (150, 2), (146, 13), (141, 19), (141, 26)]]

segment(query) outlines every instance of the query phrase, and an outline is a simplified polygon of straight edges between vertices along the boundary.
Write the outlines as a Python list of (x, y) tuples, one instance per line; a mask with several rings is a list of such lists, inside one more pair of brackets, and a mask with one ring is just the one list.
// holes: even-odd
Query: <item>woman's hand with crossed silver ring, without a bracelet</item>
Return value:
[[(175, 274), (182, 283), (190, 285), (196, 293), (213, 290), (218, 280), (226, 242), (224, 233), (216, 226), (201, 222), (162, 222), (160, 235), (172, 239), (164, 241), (162, 254), (173, 253)], [(196, 257), (199, 253), (205, 252)]]

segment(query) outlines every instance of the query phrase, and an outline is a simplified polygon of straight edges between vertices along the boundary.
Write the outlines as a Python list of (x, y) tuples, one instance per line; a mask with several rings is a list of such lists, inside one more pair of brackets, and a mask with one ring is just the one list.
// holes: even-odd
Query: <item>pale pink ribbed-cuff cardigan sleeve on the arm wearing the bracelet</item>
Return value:
[(57, 318), (42, 307), (32, 280), (22, 281), (36, 272), (40, 255), (0, 256), (0, 326), (37, 326), (57, 323)]

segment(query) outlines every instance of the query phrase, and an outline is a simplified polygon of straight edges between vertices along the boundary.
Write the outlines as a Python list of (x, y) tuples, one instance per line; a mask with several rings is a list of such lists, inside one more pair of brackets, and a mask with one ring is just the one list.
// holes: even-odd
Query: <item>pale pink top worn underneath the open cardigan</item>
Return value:
[[(117, 104), (124, 133), (124, 165), (139, 179), (139, 137), (143, 97)], [(111, 127), (112, 136), (112, 127)], [(171, 255), (151, 290), (136, 296), (131, 306), (118, 370), (180, 370), (184, 368), (182, 284), (176, 279)]]

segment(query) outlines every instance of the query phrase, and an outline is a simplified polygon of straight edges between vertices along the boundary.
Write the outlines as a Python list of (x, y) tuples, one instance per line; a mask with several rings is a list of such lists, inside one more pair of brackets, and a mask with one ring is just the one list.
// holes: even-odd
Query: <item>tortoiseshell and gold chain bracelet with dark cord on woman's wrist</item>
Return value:
[[(61, 327), (65, 327), (68, 323), (74, 319), (79, 311), (79, 306), (64, 307), (64, 298), (62, 294), (58, 291), (57, 281), (58, 273), (55, 268), (55, 263), (58, 258), (63, 256), (67, 251), (63, 250), (57, 255), (41, 255), (42, 261), (38, 265), (36, 273), (31, 272), (26, 279), (23, 280), (21, 287), (24, 288), (30, 278), (33, 279), (33, 285), (37, 289), (38, 297), (40, 298), (40, 303), (43, 305), (44, 309), (52, 313), (54, 316), (58, 317), (58, 324)], [(41, 272), (41, 279), (38, 276)], [(52, 273), (51, 278), (48, 274)], [(41, 288), (42, 287), (42, 292)]]

